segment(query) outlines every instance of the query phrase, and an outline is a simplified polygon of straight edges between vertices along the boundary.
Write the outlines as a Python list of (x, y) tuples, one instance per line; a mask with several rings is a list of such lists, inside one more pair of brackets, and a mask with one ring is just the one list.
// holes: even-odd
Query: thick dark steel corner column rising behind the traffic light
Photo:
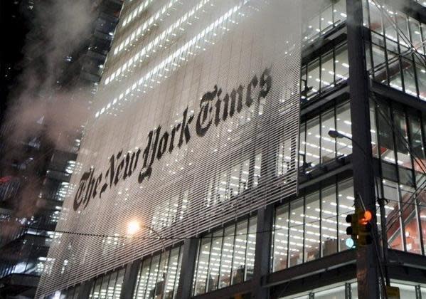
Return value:
[[(349, 93), (351, 96), (352, 139), (359, 146), (352, 149), (353, 190), (357, 209), (373, 211), (373, 236), (377, 234), (376, 199), (374, 193), (371, 152), (370, 107), (368, 101), (368, 74), (363, 40), (362, 1), (346, 0)], [(361, 202), (362, 201), (362, 202)], [(374, 243), (378, 243), (377, 240)], [(378, 259), (374, 245), (358, 246), (356, 276), (359, 298), (380, 298)]]

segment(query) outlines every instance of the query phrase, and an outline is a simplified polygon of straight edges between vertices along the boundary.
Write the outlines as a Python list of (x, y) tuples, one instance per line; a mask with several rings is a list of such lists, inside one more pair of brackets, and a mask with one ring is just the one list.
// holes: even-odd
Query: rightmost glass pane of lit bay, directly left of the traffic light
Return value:
[(346, 180), (339, 182), (338, 184), (338, 196), (337, 202), (339, 204), (339, 250), (343, 251), (348, 249), (346, 247), (346, 239), (349, 237), (346, 235), (346, 215), (353, 214), (355, 211), (355, 198), (353, 197), (353, 182), (352, 180)]

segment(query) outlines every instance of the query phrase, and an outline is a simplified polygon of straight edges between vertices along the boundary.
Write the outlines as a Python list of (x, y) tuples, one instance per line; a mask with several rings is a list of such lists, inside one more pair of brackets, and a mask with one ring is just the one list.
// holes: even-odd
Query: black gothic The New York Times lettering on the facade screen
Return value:
[[(200, 101), (200, 109), (195, 121), (196, 135), (203, 137), (208, 130), (218, 126), (220, 122), (226, 121), (243, 110), (250, 107), (252, 103), (265, 99), (272, 88), (271, 68), (266, 68), (257, 78), (255, 75), (247, 85), (239, 85), (225, 93), (218, 85), (213, 90), (203, 95)], [(82, 174), (78, 190), (75, 194), (73, 208), (77, 211), (80, 206), (85, 209), (90, 199), (99, 196), (102, 198), (107, 189), (115, 187), (121, 180), (129, 179), (137, 171), (139, 162), (142, 168), (137, 174), (139, 184), (149, 179), (152, 175), (152, 165), (155, 160), (161, 159), (167, 152), (173, 152), (175, 147), (181, 147), (185, 142), (191, 140), (191, 128), (193, 127), (194, 115), (188, 115), (188, 107), (182, 113), (182, 122), (175, 125), (171, 130), (164, 130), (160, 125), (151, 130), (147, 136), (147, 145), (144, 150), (138, 148), (136, 151), (123, 153), (120, 150), (110, 157), (109, 167), (105, 172), (95, 174), (95, 168), (90, 168)], [(105, 174), (104, 174), (105, 173)]]

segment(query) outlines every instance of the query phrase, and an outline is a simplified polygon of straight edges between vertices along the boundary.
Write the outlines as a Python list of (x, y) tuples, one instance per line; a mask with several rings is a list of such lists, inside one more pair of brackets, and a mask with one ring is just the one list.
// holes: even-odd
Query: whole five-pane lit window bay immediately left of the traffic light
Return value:
[(348, 249), (346, 215), (354, 211), (352, 179), (321, 187), (318, 191), (275, 209), (272, 236), (272, 271)]

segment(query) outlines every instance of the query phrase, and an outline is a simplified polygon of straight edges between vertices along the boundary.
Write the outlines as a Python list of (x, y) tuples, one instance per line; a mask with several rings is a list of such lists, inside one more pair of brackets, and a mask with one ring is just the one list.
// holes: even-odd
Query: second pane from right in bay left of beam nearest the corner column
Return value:
[(245, 273), (245, 244), (247, 243), (247, 221), (241, 221), (237, 224), (235, 236), (234, 254), (233, 254), (233, 272), (231, 282), (242, 283)]

